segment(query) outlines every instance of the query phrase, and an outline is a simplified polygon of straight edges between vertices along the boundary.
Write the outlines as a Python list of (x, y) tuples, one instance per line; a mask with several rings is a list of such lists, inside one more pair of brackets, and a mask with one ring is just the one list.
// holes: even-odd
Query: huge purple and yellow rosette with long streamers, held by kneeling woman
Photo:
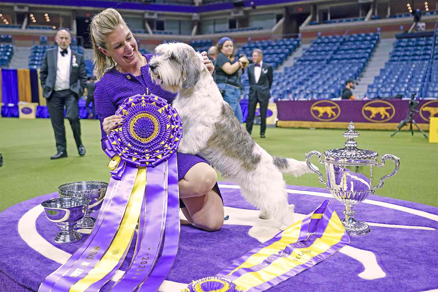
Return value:
[(177, 254), (180, 220), (178, 113), (156, 95), (124, 100), (124, 123), (105, 141), (112, 175), (91, 234), (39, 291), (99, 291), (124, 261), (134, 230), (134, 257), (111, 291), (156, 291)]

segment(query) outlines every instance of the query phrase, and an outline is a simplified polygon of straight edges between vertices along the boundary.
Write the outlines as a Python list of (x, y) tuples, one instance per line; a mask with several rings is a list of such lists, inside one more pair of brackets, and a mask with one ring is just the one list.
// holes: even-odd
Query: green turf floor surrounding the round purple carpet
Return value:
[[(109, 181), (108, 158), (100, 146), (99, 122), (81, 120), (82, 141), (87, 149), (84, 157), (78, 155), (71, 127), (67, 120), (65, 123), (69, 156), (50, 160), (49, 157), (56, 153), (50, 120), (0, 118), (0, 153), (4, 157), (4, 166), (0, 167), (0, 211), (57, 191), (57, 186), (63, 183)], [(265, 139), (261, 139), (258, 132), (259, 128), (254, 127), (255, 141), (270, 154), (298, 160), (304, 160), (305, 153), (311, 150), (323, 152), (342, 148), (346, 140), (342, 136), (343, 130), (268, 128)], [(399, 172), (385, 180), (385, 185), (376, 194), (438, 207), (438, 144), (428, 143), (419, 132), (411, 136), (410, 132), (403, 131), (392, 138), (390, 131), (359, 130), (359, 133), (359, 148), (400, 157)], [(324, 166), (317, 158), (313, 158), (312, 163), (323, 172)], [(393, 168), (391, 161), (381, 169), (376, 168), (373, 183)], [(299, 178), (285, 176), (285, 179), (292, 185), (323, 186), (314, 174)]]

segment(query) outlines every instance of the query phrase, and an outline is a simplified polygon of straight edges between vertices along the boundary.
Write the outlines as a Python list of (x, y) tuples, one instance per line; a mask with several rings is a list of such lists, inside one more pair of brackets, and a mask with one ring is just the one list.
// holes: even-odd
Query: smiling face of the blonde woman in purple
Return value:
[(119, 25), (106, 37), (106, 49), (101, 51), (120, 67), (131, 67), (140, 61), (137, 41), (126, 25)]

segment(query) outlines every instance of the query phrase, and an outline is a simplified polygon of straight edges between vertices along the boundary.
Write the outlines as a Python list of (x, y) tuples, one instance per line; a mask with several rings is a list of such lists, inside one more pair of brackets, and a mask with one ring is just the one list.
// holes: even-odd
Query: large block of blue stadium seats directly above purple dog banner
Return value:
[[(314, 40), (303, 56), (283, 73), (275, 73), (275, 99), (332, 99), (341, 95), (347, 79), (360, 76), (380, 35), (331, 35)], [(378, 89), (374, 89), (377, 95)]]

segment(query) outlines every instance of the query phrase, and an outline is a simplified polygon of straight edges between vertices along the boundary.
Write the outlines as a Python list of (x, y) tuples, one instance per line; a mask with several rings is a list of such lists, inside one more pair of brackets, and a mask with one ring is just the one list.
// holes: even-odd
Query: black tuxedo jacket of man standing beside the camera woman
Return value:
[(258, 98), (260, 100), (269, 99), (271, 97), (269, 89), (271, 89), (273, 69), (271, 64), (263, 62), (261, 65), (261, 73), (258, 82), (255, 82), (254, 75), (255, 63), (248, 65), (248, 78), (249, 78), (249, 96), (248, 98), (252, 100), (253, 98)]

